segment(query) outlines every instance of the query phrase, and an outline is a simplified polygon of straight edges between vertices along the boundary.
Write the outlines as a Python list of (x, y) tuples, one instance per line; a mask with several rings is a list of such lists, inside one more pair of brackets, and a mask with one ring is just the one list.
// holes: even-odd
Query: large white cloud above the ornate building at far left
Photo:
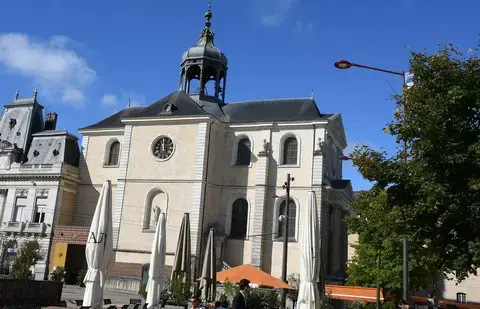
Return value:
[(65, 36), (39, 41), (25, 34), (0, 34), (0, 63), (8, 72), (32, 78), (42, 94), (83, 105), (85, 90), (96, 79), (87, 61), (69, 48)]

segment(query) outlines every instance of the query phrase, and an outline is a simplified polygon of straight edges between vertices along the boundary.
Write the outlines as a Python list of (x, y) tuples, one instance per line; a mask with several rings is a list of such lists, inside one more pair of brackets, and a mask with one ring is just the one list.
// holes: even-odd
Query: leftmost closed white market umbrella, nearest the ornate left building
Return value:
[(85, 283), (84, 307), (92, 309), (103, 307), (105, 270), (113, 253), (112, 236), (112, 188), (110, 180), (106, 180), (100, 191), (85, 247), (88, 271), (83, 280)]

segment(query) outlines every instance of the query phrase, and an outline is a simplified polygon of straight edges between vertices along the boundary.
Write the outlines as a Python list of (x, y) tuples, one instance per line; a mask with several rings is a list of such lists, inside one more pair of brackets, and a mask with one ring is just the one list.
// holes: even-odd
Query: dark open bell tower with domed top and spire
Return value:
[(225, 104), (227, 57), (213, 43), (211, 4), (205, 13), (205, 27), (198, 44), (190, 47), (180, 64), (179, 88), (188, 95), (209, 97)]

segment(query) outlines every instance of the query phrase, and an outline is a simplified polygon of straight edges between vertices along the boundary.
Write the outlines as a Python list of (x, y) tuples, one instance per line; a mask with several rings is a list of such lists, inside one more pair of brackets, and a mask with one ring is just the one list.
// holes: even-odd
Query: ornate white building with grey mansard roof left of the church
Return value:
[(4, 106), (0, 118), (0, 271), (8, 275), (16, 254), (37, 240), (44, 258), (32, 269), (43, 280), (52, 226), (71, 224), (80, 180), (78, 139), (57, 130), (56, 113), (43, 117), (33, 97)]

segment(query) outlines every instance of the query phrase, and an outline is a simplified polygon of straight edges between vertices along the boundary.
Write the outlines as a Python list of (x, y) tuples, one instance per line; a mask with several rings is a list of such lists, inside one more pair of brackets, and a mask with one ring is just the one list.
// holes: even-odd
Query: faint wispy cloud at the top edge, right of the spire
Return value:
[(280, 25), (299, 0), (256, 0), (256, 11), (262, 24), (270, 27)]

